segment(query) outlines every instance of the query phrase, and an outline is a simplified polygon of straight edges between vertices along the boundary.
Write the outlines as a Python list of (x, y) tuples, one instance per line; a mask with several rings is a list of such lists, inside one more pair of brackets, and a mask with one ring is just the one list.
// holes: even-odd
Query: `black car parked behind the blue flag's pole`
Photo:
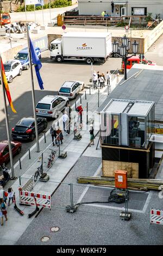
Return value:
[[(46, 118), (37, 118), (38, 133), (46, 129)], [(13, 139), (29, 139), (31, 141), (35, 138), (35, 121), (33, 117), (23, 117), (15, 127), (12, 128), (11, 136)]]

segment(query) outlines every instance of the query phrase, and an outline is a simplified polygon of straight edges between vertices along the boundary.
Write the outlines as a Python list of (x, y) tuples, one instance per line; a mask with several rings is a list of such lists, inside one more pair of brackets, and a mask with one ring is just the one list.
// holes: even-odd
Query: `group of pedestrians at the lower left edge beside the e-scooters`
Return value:
[(4, 191), (3, 187), (0, 188), (0, 217), (1, 217), (1, 225), (3, 225), (3, 217), (5, 220), (8, 220), (7, 217), (7, 200), (9, 198), (8, 206), (10, 205), (10, 201), (14, 203), (14, 192), (11, 187), (8, 188), (8, 192)]

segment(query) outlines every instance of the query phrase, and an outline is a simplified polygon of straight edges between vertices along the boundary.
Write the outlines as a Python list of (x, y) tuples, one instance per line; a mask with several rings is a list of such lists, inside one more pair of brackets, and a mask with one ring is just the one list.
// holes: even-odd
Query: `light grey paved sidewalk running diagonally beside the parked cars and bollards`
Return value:
[[(87, 92), (87, 99), (85, 100), (85, 94), (82, 96), (82, 105), (85, 110), (86, 102), (89, 102), (89, 111), (92, 114), (95, 114), (96, 109), (98, 107), (98, 90), (91, 90), (91, 95), (89, 95), (89, 89), (86, 90)], [(106, 99), (106, 96), (108, 95), (108, 89), (105, 86), (103, 89), (100, 90), (99, 93), (99, 105)], [(80, 103), (80, 99), (77, 102), (77, 106)], [(74, 105), (72, 106), (74, 109)], [(91, 118), (91, 114), (89, 113), (88, 120)], [(90, 123), (87, 125), (86, 120), (86, 113), (84, 113), (84, 120), (83, 120), (83, 130), (81, 131), (82, 139), (80, 141), (74, 141), (73, 140), (73, 131), (70, 132), (70, 136), (66, 136), (64, 134), (64, 142), (60, 147), (61, 152), (67, 151), (67, 157), (66, 159), (58, 159), (55, 160), (53, 163), (53, 166), (51, 169), (48, 170), (48, 175), (50, 176), (49, 181), (55, 181), (60, 182), (64, 176), (68, 173), (68, 171), (74, 166), (74, 164), (78, 161), (79, 157), (84, 153), (85, 149), (87, 148), (89, 144), (89, 125), (92, 123), (92, 119), (90, 120)], [(73, 119), (73, 118), (72, 118)], [(55, 121), (57, 123), (57, 120)], [(59, 119), (59, 125), (62, 129), (62, 117)], [(95, 127), (95, 134), (97, 133), (98, 129)], [(101, 157), (101, 150), (96, 150), (96, 145), (98, 142), (98, 138), (95, 140), (95, 145), (91, 146), (91, 148), (87, 149), (89, 150), (89, 154), (92, 154), (93, 156)], [(43, 142), (43, 137), (40, 139), (40, 153), (36, 153), (36, 144), (31, 149), (31, 157), (32, 159), (29, 160), (28, 152), (22, 157), (22, 170), (19, 168), (19, 163), (17, 162), (15, 164), (15, 175), (20, 175), (20, 171), (25, 171), (22, 177), (24, 178), (24, 181), (27, 181), (25, 178), (30, 178), (36, 170), (36, 167), (40, 165), (40, 162), (37, 162), (37, 159), (39, 159), (39, 156), (41, 155), (41, 152), (43, 150), (46, 151), (43, 155), (44, 160), (47, 158), (47, 156), (50, 154), (50, 150), (48, 148), (54, 148), (54, 150), (58, 151), (58, 147), (47, 147), (51, 143), (51, 135), (49, 131), (46, 133), (46, 143)], [(34, 160), (36, 161), (34, 162)], [(43, 161), (44, 161), (43, 160)], [(34, 162), (34, 163), (33, 163)], [(33, 163), (33, 164), (32, 164)], [(30, 165), (32, 166), (30, 167)], [(47, 166), (47, 164), (46, 164)], [(47, 171), (47, 167), (44, 166), (44, 171)], [(50, 183), (50, 182), (49, 182)], [(55, 187), (57, 186), (56, 183), (54, 183), (54, 186), (49, 185), (47, 182), (47, 191), (41, 191), (41, 182), (37, 182), (39, 191), (35, 192), (43, 192), (44, 194), (52, 194)], [(40, 184), (40, 185), (39, 185)], [(52, 184), (52, 182), (50, 183)], [(33, 221), (33, 218), (28, 218), (28, 214), (31, 213), (35, 206), (19, 206), (19, 195), (18, 195), (18, 186), (19, 186), (19, 180), (17, 179), (15, 183), (12, 185), (12, 188), (16, 194), (16, 202), (17, 206), (24, 212), (23, 216), (20, 216), (13, 208), (13, 204), (11, 204), (8, 207), (8, 222), (4, 221), (3, 227), (0, 229), (0, 244), (1, 245), (14, 245), (18, 238), (24, 233), (28, 225)]]

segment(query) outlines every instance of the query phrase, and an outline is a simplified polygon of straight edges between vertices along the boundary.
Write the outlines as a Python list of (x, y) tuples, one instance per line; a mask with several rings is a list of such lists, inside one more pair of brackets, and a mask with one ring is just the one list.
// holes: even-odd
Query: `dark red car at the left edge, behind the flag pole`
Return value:
[[(11, 149), (12, 155), (19, 154), (22, 148), (21, 142), (11, 141)], [(10, 155), (9, 155), (9, 143), (8, 141), (1, 141), (0, 142), (0, 165), (2, 168), (5, 167), (5, 164), (9, 162)]]

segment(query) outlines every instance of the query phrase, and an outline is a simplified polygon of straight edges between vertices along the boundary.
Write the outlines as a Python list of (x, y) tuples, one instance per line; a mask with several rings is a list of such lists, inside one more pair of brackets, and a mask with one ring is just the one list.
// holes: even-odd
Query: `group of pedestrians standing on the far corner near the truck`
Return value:
[(100, 89), (105, 86), (105, 82), (107, 82), (107, 86), (110, 86), (110, 74), (109, 71), (106, 72), (106, 77), (104, 73), (100, 73), (99, 71), (93, 71), (93, 88), (97, 89), (97, 86), (100, 86)]

